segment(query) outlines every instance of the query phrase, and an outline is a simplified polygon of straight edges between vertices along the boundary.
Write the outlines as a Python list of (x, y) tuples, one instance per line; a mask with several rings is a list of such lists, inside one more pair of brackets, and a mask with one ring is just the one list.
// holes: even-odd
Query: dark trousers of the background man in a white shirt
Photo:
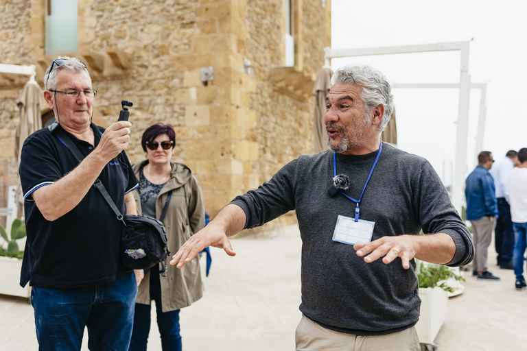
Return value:
[(495, 246), (497, 263), (511, 263), (514, 249), (514, 228), (511, 220), (511, 206), (504, 197), (497, 198), (497, 212), (500, 217), (496, 219)]

